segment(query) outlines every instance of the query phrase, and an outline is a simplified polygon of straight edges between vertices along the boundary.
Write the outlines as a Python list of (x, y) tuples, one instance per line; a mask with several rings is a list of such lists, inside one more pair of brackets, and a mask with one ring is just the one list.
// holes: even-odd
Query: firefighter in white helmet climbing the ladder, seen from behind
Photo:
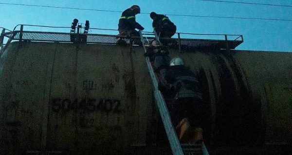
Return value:
[(180, 142), (201, 143), (203, 105), (199, 81), (179, 57), (170, 61), (169, 69), (159, 82), (160, 91), (165, 92), (169, 88), (175, 95), (167, 108)]

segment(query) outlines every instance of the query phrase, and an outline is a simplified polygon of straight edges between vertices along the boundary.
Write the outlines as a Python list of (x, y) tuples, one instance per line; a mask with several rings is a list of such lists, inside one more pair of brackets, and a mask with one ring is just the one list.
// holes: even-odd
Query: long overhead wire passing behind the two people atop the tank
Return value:
[[(215, 1), (215, 0), (213, 0)], [(16, 3), (1, 3), (5, 5), (18, 5), (18, 6), (33, 6), (33, 7), (46, 7), (46, 8), (58, 8), (58, 9), (73, 9), (73, 10), (87, 10), (87, 11), (103, 11), (103, 12), (116, 12), (122, 13), (122, 11), (113, 10), (97, 10), (97, 9), (86, 9), (86, 8), (73, 8), (73, 7), (59, 7), (59, 6), (45, 6), (45, 5), (29, 5), (29, 4), (16, 4)], [(141, 13), (147, 14), (149, 13)], [(292, 19), (273, 19), (273, 18), (249, 18), (249, 17), (232, 17), (232, 16), (197, 16), (197, 15), (175, 15), (166, 14), (167, 16), (190, 16), (190, 17), (205, 17), (205, 18), (229, 18), (229, 19), (254, 19), (254, 20), (276, 20), (276, 21), (292, 21)]]

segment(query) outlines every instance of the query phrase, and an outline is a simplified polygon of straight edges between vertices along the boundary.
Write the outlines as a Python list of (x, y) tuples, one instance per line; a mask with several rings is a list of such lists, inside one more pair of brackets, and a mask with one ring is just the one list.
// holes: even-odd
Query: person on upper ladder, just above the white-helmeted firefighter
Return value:
[(169, 68), (170, 58), (166, 47), (160, 46), (157, 40), (153, 40), (147, 48), (145, 57), (149, 57), (150, 62), (154, 64), (154, 71), (159, 73), (159, 78), (164, 77)]

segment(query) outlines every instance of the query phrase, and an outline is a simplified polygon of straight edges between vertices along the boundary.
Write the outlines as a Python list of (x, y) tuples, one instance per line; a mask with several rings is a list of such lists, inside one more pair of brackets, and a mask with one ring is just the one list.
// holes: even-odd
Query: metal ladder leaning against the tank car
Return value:
[[(143, 33), (141, 31), (139, 31), (139, 33), (140, 33), (141, 41), (143, 43), (144, 50), (146, 52), (145, 39), (143, 37)], [(146, 34), (146, 33), (144, 33), (144, 34)], [(148, 33), (148, 35), (149, 35), (149, 33)], [(161, 45), (156, 31), (154, 31), (151, 35), (155, 35), (156, 40)], [(161, 92), (158, 90), (158, 81), (157, 81), (157, 78), (154, 74), (149, 57), (146, 57), (146, 63), (147, 63), (147, 67), (148, 67), (150, 77), (152, 79), (152, 83), (153, 83), (153, 87), (154, 87), (155, 100), (156, 100), (156, 103), (158, 105), (158, 109), (159, 109), (159, 112), (160, 112), (160, 115), (161, 115), (161, 118), (162, 118), (162, 121), (164, 124), (166, 135), (167, 135), (167, 138), (169, 140), (173, 155), (209, 155), (204, 143), (202, 143), (202, 145), (188, 144), (188, 143), (187, 144), (180, 144), (178, 137), (176, 135), (175, 128), (173, 127), (173, 125), (171, 123), (170, 115), (168, 113), (168, 109), (166, 107), (164, 97), (161, 94)]]

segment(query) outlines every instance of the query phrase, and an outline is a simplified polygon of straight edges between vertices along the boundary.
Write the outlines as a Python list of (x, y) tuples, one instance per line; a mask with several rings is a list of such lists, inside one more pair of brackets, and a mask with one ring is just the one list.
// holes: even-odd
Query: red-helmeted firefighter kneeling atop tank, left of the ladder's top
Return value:
[[(118, 36), (140, 36), (139, 32), (135, 29), (143, 31), (144, 28), (138, 22), (136, 22), (135, 16), (137, 14), (140, 14), (140, 7), (138, 5), (132, 5), (122, 13), (118, 24)], [(120, 41), (122, 41), (121, 38)], [(135, 39), (134, 42), (138, 45), (142, 44), (140, 39)]]

